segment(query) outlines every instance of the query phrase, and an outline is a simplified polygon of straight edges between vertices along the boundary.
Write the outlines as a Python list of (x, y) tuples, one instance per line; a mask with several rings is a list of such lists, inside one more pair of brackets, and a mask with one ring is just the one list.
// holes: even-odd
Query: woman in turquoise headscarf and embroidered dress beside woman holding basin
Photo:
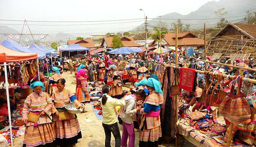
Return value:
[[(29, 88), (34, 92), (27, 96), (22, 111), (22, 120), (26, 123), (23, 146), (56, 146), (55, 132), (51, 121), (51, 98), (47, 93), (42, 92), (44, 85), (41, 81), (32, 83)], [(28, 121), (28, 114), (39, 115), (37, 123)]]

